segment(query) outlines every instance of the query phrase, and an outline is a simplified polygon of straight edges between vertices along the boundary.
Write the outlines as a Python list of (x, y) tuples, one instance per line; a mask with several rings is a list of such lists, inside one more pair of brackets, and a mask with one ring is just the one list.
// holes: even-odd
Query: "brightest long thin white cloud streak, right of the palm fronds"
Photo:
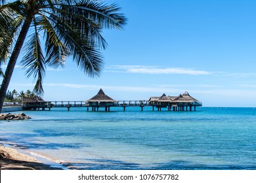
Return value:
[(108, 72), (125, 72), (125, 73), (140, 73), (140, 74), (180, 74), (180, 75), (210, 75), (208, 71), (199, 71), (188, 68), (175, 67), (160, 67), (146, 65), (110, 65), (106, 67)]

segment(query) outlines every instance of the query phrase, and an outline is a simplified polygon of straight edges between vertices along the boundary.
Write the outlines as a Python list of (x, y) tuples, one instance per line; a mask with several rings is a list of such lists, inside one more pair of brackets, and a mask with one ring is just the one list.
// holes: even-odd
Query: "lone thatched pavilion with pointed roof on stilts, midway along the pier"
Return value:
[(85, 102), (87, 103), (87, 110), (92, 107), (93, 111), (98, 111), (99, 107), (105, 107), (105, 111), (110, 111), (110, 107), (116, 106), (118, 101), (106, 95), (100, 88), (100, 91), (94, 97)]

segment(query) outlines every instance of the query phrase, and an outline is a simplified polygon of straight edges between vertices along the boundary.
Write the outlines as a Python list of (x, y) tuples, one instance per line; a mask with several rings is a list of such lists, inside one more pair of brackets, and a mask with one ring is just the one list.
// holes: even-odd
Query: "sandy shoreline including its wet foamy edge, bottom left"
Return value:
[(0, 170), (64, 170), (61, 163), (45, 163), (43, 157), (22, 152), (6, 142), (0, 142)]

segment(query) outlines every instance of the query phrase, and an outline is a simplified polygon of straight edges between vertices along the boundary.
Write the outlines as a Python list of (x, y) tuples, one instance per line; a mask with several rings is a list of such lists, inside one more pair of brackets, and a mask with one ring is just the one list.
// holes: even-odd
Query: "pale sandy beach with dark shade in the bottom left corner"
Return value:
[(0, 144), (0, 169), (1, 170), (61, 170), (38, 161), (32, 156), (22, 154), (14, 148)]

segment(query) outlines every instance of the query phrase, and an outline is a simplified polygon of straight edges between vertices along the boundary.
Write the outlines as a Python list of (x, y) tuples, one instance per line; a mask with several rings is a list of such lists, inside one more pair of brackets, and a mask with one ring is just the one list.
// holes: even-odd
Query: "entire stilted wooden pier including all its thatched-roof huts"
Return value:
[(53, 107), (65, 107), (70, 110), (72, 107), (86, 107), (87, 111), (99, 111), (99, 108), (104, 108), (105, 111), (110, 111), (110, 107), (122, 107), (123, 111), (127, 107), (140, 107), (143, 110), (144, 107), (152, 107), (152, 110), (161, 111), (162, 108), (167, 108), (168, 111), (191, 111), (194, 107), (202, 106), (202, 102), (191, 97), (188, 92), (184, 92), (182, 95), (171, 97), (166, 96), (165, 93), (161, 97), (150, 97), (148, 101), (117, 101), (106, 95), (102, 89), (91, 99), (87, 101), (44, 101), (41, 97), (35, 97), (34, 99), (24, 97), (22, 99), (23, 110), (45, 110), (48, 108), (51, 110)]

